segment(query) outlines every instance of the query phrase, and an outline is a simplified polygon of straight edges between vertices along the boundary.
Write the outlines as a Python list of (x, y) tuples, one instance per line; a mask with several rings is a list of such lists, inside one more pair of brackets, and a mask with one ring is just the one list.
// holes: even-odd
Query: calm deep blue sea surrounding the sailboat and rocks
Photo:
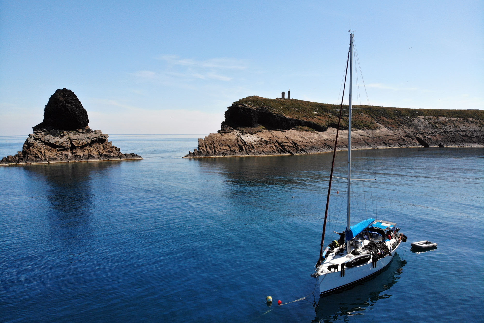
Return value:
[[(362, 285), (269, 308), (314, 289), (331, 154), (180, 158), (197, 137), (110, 137), (141, 161), (1, 167), (0, 322), (482, 321), (484, 149), (356, 151), (355, 176), (377, 181), (354, 185), (353, 223), (408, 242)], [(0, 137), (0, 157), (24, 140)]]

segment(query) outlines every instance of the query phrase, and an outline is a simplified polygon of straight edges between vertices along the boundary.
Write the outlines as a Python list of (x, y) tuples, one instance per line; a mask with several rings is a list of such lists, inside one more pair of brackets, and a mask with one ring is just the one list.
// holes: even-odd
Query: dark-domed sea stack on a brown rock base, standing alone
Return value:
[(44, 120), (32, 127), (21, 152), (3, 157), (0, 165), (143, 159), (122, 154), (107, 134), (92, 130), (86, 109), (71, 90), (59, 89), (44, 109)]

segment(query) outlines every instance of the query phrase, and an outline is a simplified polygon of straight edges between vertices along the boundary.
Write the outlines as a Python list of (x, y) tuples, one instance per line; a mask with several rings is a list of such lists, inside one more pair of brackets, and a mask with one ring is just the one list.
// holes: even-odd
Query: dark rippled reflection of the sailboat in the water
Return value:
[(311, 322), (346, 322), (349, 316), (365, 314), (379, 299), (392, 296), (386, 291), (398, 281), (406, 263), (397, 253), (390, 266), (371, 280), (337, 294), (321, 296), (318, 304), (314, 304), (316, 318)]

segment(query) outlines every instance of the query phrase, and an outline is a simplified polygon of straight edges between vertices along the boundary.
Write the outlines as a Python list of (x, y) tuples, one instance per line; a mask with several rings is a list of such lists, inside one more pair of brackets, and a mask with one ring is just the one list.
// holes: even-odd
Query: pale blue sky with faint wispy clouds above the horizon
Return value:
[(484, 108), (482, 0), (17, 0), (0, 2), (0, 135), (31, 133), (63, 87), (113, 134), (216, 132), (232, 102), (289, 88), (336, 103), (350, 17), (370, 104)]

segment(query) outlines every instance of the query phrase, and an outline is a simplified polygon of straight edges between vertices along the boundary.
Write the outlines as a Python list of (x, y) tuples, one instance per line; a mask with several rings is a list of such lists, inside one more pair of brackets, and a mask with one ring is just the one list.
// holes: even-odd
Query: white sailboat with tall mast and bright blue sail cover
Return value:
[[(334, 240), (324, 248), (324, 237), (326, 222), (328, 219), (328, 207), (333, 181), (334, 158), (338, 143), (339, 125), (343, 111), (343, 98), (339, 113), (338, 128), (334, 142), (333, 163), (331, 166), (330, 180), (328, 186), (328, 197), (326, 200), (326, 211), (324, 215), (323, 232), (319, 260), (315, 266), (312, 277), (318, 279), (320, 294), (330, 294), (338, 290), (349, 288), (364, 280), (367, 280), (387, 268), (393, 260), (396, 250), (407, 237), (400, 233), (396, 223), (376, 218), (368, 218), (355, 225), (350, 225), (351, 206), (351, 181), (371, 180), (351, 178), (351, 105), (352, 78), (353, 78), (353, 33), (350, 30), (350, 44), (346, 68), (348, 71), (349, 61), (349, 107), (348, 107), (348, 202), (347, 202), (347, 226), (346, 230), (339, 233), (340, 238)], [(348, 73), (347, 73), (348, 74)], [(346, 87), (346, 76), (345, 76)], [(343, 96), (345, 89), (343, 88)], [(338, 232), (336, 232), (338, 233)]]

